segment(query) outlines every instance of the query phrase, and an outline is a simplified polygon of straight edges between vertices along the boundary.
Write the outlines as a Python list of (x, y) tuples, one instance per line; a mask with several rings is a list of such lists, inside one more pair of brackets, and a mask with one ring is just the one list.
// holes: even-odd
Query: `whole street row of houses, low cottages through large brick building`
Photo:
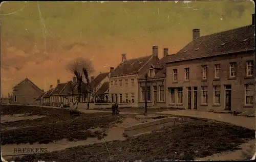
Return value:
[[(140, 58), (126, 59), (122, 53), (116, 68), (91, 79), (90, 99), (138, 107), (146, 100), (151, 107), (203, 111), (255, 109), (254, 14), (251, 25), (205, 36), (194, 29), (191, 34), (191, 42), (177, 53), (164, 48), (161, 59), (157, 46)], [(54, 89), (38, 92), (37, 100), (51, 105), (72, 102), (77, 95), (76, 90), (71, 91), (75, 82), (61, 84), (58, 80)], [(89, 99), (82, 97), (83, 101)]]

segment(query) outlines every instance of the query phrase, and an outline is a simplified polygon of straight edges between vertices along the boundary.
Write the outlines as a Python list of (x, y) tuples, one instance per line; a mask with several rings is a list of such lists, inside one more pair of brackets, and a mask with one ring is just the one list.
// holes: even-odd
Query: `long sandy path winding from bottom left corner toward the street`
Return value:
[[(101, 140), (98, 140), (97, 138), (88, 138), (87, 140), (82, 140), (82, 141), (68, 141), (67, 139), (62, 139), (60, 141), (55, 141), (53, 143), (49, 144), (10, 144), (10, 145), (4, 145), (2, 146), (2, 156), (5, 159), (9, 159), (12, 156), (6, 156), (6, 155), (19, 155), (19, 154), (24, 154), (24, 153), (15, 153), (14, 149), (18, 148), (47, 148), (48, 152), (52, 151), (57, 151), (57, 150), (63, 150), (66, 148), (71, 148), (71, 147), (76, 147), (76, 146), (84, 146), (84, 145), (91, 145), (95, 143), (104, 143), (104, 142), (109, 142), (109, 141), (123, 141), (126, 140), (126, 138), (123, 136), (124, 128), (132, 125), (136, 125), (139, 123), (144, 123), (144, 122), (149, 122), (153, 121), (155, 119), (145, 119), (145, 118), (125, 118), (122, 123), (116, 123), (116, 125), (110, 127), (108, 130), (106, 130), (106, 134), (108, 136), (104, 137)], [(94, 129), (89, 129), (91, 131), (103, 131), (102, 128), (94, 128)]]

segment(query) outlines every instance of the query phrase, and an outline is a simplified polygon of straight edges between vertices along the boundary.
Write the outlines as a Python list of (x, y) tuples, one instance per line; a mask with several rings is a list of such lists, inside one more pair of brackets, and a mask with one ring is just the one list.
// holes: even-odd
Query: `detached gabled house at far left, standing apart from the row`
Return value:
[(13, 103), (16, 104), (39, 104), (36, 98), (42, 90), (30, 79), (26, 78), (13, 87)]

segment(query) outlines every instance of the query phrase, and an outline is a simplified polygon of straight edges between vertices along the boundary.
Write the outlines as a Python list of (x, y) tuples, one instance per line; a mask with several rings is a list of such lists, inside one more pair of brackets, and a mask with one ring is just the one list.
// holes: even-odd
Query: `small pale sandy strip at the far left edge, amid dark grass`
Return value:
[(26, 115), (26, 114), (14, 114), (14, 115), (2, 115), (1, 116), (1, 123), (5, 122), (13, 122), (13, 121), (18, 121), (18, 120), (33, 120), (33, 119), (38, 119), (38, 118), (43, 118), (46, 116), (38, 116), (38, 115)]

